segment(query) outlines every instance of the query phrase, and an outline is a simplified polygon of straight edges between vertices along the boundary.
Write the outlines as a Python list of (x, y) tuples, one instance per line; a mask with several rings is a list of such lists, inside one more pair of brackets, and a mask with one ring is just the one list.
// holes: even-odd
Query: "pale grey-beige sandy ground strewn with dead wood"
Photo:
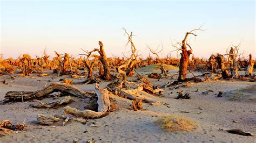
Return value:
[[(171, 74), (176, 72), (177, 70), (173, 70)], [(140, 72), (140, 74), (147, 73)], [(0, 76), (0, 81), (5, 79), (9, 83), (9, 85), (0, 83), (0, 101), (4, 99), (7, 91), (35, 91), (50, 83), (58, 82), (60, 78), (69, 78), (69, 75), (57, 77), (56, 74), (36, 78), (31, 76), (16, 77), (15, 80), (12, 80), (10, 76)], [(135, 79), (135, 77), (128, 79)], [(156, 85), (163, 85), (174, 80), (165, 78), (160, 81), (155, 79), (150, 79), (150, 81)], [(100, 87), (104, 88), (107, 83), (109, 82), (103, 81), (100, 83)], [(93, 84), (76, 85), (76, 87), (83, 90), (94, 89)], [(174, 99), (181, 89), (183, 92), (190, 93), (191, 99)], [(207, 90), (213, 90), (213, 92), (209, 92), (207, 95), (202, 93)], [(224, 92), (224, 97), (217, 98), (218, 91)], [(169, 104), (169, 107), (163, 104), (144, 103), (144, 111), (133, 111), (129, 99), (111, 95), (118, 103), (118, 110), (110, 112), (109, 115), (100, 119), (90, 119), (85, 125), (76, 121), (65, 126), (59, 123), (50, 126), (36, 124), (36, 116), (39, 113), (46, 115), (47, 113), (60, 113), (61, 107), (58, 109), (35, 109), (29, 106), (33, 102), (0, 104), (0, 120), (21, 123), (26, 119), (27, 124), (25, 131), (10, 134), (0, 132), (2, 134), (0, 142), (71, 142), (73, 139), (86, 142), (92, 138), (95, 138), (96, 142), (256, 142), (255, 137), (219, 130), (219, 128), (224, 130), (240, 128), (256, 133), (255, 82), (238, 80), (192, 82), (187, 87), (174, 90), (166, 88), (163, 95), (163, 97), (154, 97), (154, 99)], [(232, 98), (232, 95), (245, 96), (237, 99)], [(85, 102), (83, 99), (76, 99), (78, 101), (70, 103), (69, 106), (83, 110)], [(52, 98), (43, 99), (43, 102), (50, 101)], [(199, 124), (199, 127), (191, 132), (167, 132), (154, 123), (161, 116), (172, 114), (191, 118)], [(233, 120), (239, 122), (234, 123)]]

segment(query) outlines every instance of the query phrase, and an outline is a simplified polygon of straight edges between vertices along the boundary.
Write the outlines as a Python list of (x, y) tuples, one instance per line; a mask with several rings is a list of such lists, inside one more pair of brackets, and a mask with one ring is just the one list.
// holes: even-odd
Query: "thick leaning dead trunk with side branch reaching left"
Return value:
[[(99, 53), (100, 56), (92, 54), (93, 52), (96, 52), (96, 51)], [(87, 52), (87, 58), (89, 58), (90, 56), (98, 58), (100, 63), (102, 63), (103, 70), (104, 70), (104, 74), (103, 74), (102, 78), (104, 80), (111, 80), (109, 62), (107, 61), (107, 57), (106, 57), (106, 54), (104, 51), (104, 46), (101, 41), (99, 41), (99, 49), (95, 48), (95, 49), (93, 49), (93, 51)]]

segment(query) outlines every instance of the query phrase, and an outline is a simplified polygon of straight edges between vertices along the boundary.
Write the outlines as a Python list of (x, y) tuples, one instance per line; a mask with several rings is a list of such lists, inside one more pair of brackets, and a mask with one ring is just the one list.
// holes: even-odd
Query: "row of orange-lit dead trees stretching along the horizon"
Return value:
[[(71, 58), (68, 53), (59, 54), (55, 52), (56, 57), (52, 60), (49, 60), (50, 56), (46, 54), (46, 50), (44, 50), (43, 56), (36, 56), (36, 59), (32, 59), (28, 54), (23, 54), (23, 56), (18, 60), (6, 60), (7, 62), (5, 62), (9, 64), (9, 70), (2, 68), (1, 73), (3, 74), (4, 71), (6, 73), (11, 73), (14, 71), (10, 70), (19, 69), (21, 73), (24, 73), (25, 75), (29, 75), (31, 73), (43, 74), (43, 69), (53, 69), (53, 73), (58, 73), (59, 76), (65, 74), (80, 74), (79, 70), (87, 69), (87, 78), (92, 78), (93, 70), (98, 68), (99, 77), (103, 80), (111, 80), (112, 77), (116, 77), (115, 74), (111, 73), (117, 72), (122, 76), (122, 81), (125, 81), (126, 76), (132, 76), (134, 74), (134, 69), (156, 63), (160, 64), (161, 74), (167, 76), (168, 71), (164, 66), (164, 64), (167, 63), (167, 65), (179, 66), (178, 81), (180, 82), (186, 80), (187, 70), (190, 69), (201, 68), (210, 70), (212, 73), (215, 73), (216, 69), (220, 69), (223, 78), (240, 78), (238, 70), (241, 70), (241, 68), (246, 70), (245, 75), (247, 76), (251, 75), (253, 71), (254, 60), (252, 59), (252, 55), (250, 54), (249, 60), (246, 60), (244, 57), (240, 58), (240, 55), (238, 56), (240, 44), (238, 46), (231, 47), (230, 51), (228, 51), (225, 55), (212, 54), (208, 61), (205, 59), (194, 58), (193, 55), (192, 60), (190, 60), (190, 55), (193, 51), (191, 45), (187, 42), (187, 38), (189, 35), (196, 37), (197, 34), (194, 32), (203, 31), (201, 26), (190, 32), (187, 32), (181, 43), (177, 42), (177, 44), (172, 45), (173, 47), (177, 48), (175, 51), (181, 52), (181, 57), (179, 60), (171, 59), (170, 57), (160, 59), (159, 53), (163, 51), (163, 45), (160, 50), (158, 50), (158, 48), (154, 50), (150, 46), (147, 46), (150, 52), (156, 55), (155, 59), (151, 58), (151, 56), (149, 56), (146, 60), (138, 58), (136, 46), (132, 41), (132, 32), (128, 33), (124, 28), (123, 30), (125, 31), (125, 35), (127, 35), (128, 38), (126, 46), (130, 46), (131, 48), (131, 55), (124, 55), (125, 58), (107, 58), (104, 51), (103, 42), (99, 41), (99, 48), (95, 48), (90, 52), (83, 50), (85, 54), (80, 55), (85, 55), (84, 58), (81, 56), (79, 59), (74, 59)], [(226, 59), (224, 56), (226, 56)], [(10, 68), (14, 66), (17, 68)]]

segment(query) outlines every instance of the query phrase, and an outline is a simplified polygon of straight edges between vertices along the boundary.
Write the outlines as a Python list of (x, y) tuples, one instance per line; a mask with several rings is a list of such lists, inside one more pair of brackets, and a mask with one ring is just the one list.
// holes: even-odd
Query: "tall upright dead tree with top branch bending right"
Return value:
[[(179, 46), (181, 46), (181, 48), (178, 48), (176, 46), (177, 49), (174, 50), (174, 51), (181, 51), (181, 58), (180, 58), (180, 63), (179, 63), (179, 77), (178, 77), (178, 82), (181, 82), (181, 81), (184, 81), (186, 80), (186, 74), (187, 74), (187, 66), (188, 66), (188, 62), (189, 62), (189, 59), (190, 59), (190, 55), (192, 54), (192, 48), (189, 44), (187, 44), (187, 37), (188, 35), (192, 34), (194, 36), (197, 36), (196, 34), (194, 34), (193, 32), (194, 31), (197, 31), (197, 30), (200, 30), (200, 31), (203, 31), (201, 29), (201, 26), (197, 29), (194, 29), (194, 30), (191, 30), (190, 32), (187, 32), (186, 35), (185, 35), (185, 38), (182, 40), (182, 43), (178, 43)], [(189, 50), (187, 50), (187, 46), (190, 47)]]

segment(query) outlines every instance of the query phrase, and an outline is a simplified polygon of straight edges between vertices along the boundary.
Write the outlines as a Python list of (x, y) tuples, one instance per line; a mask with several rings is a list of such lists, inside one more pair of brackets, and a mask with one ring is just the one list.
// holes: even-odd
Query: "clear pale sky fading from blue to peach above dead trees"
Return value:
[[(107, 56), (129, 55), (127, 36), (122, 27), (133, 32), (139, 55), (149, 55), (147, 48), (161, 48), (159, 56), (171, 54), (172, 43), (190, 35), (194, 56), (208, 58), (225, 54), (238, 45), (244, 56), (256, 58), (255, 1), (0, 1), (1, 47), (4, 58), (23, 53), (41, 56), (84, 54), (81, 48), (98, 48), (104, 44)], [(152, 55), (152, 54), (151, 54)]]

